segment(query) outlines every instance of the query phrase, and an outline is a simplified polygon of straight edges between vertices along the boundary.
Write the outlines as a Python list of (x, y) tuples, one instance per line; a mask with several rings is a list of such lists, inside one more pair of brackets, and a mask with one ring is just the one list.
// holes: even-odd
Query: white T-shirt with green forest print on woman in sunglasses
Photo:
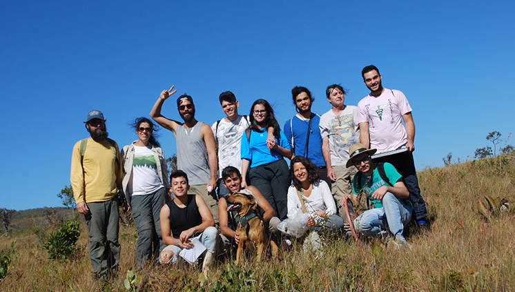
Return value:
[(159, 175), (154, 153), (149, 147), (134, 145), (132, 177), (129, 179), (129, 195), (148, 195), (164, 188)]

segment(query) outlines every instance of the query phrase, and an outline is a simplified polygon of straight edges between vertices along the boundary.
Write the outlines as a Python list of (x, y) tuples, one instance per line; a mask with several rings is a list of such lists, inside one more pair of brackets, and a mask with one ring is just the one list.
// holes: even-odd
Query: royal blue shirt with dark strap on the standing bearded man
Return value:
[(288, 142), (291, 143), (293, 132), (293, 143), (295, 144), (295, 153), (293, 154), (295, 154), (295, 156), (304, 156), (309, 158), (316, 166), (325, 166), (324, 156), (322, 155), (322, 135), (320, 135), (318, 124), (320, 124), (320, 116), (311, 113), (307, 155), (304, 155), (304, 150), (306, 150), (309, 120), (303, 121), (295, 115), (295, 117), (287, 120), (284, 124), (284, 135), (286, 139), (288, 139)]

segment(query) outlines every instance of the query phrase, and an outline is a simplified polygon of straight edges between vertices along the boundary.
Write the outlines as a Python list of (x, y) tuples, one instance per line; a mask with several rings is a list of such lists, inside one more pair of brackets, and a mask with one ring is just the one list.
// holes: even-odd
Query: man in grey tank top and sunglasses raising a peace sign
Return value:
[(202, 196), (213, 214), (215, 223), (218, 223), (218, 206), (213, 198), (216, 197), (217, 170), (215, 137), (211, 127), (195, 119), (195, 105), (193, 98), (189, 95), (184, 94), (177, 98), (177, 110), (184, 124), (161, 115), (164, 101), (177, 92), (173, 87), (162, 91), (150, 111), (150, 117), (175, 135), (177, 168), (191, 177), (190, 193)]

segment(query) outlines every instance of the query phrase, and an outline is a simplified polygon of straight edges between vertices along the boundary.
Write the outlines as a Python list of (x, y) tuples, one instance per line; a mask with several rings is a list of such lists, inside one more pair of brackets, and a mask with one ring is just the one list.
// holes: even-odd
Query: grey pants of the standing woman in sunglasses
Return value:
[(165, 188), (159, 188), (155, 193), (148, 195), (135, 195), (131, 199), (130, 206), (133, 210), (137, 235), (139, 235), (136, 246), (138, 268), (145, 265), (148, 257), (159, 255), (159, 251), (166, 247), (159, 222), (159, 212), (164, 204), (166, 204)]

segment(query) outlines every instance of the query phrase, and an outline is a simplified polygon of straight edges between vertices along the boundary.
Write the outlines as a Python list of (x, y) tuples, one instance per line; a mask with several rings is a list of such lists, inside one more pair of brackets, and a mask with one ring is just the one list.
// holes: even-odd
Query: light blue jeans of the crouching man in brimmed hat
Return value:
[(382, 208), (365, 211), (354, 220), (356, 231), (366, 236), (388, 236), (388, 230), (396, 239), (405, 242), (402, 232), (411, 220), (412, 208), (392, 193), (386, 193), (381, 200)]

